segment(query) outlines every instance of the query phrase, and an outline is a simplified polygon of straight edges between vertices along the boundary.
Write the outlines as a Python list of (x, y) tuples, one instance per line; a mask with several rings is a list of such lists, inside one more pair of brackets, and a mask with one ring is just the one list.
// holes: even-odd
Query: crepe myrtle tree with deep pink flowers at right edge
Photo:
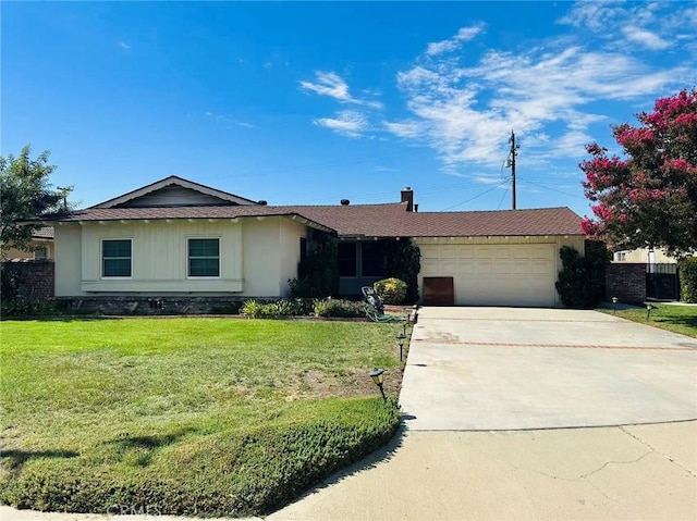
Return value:
[(613, 126), (625, 158), (598, 144), (579, 164), (595, 218), (582, 231), (610, 249), (664, 248), (681, 257), (697, 250), (697, 90), (681, 90), (637, 114), (639, 126)]

